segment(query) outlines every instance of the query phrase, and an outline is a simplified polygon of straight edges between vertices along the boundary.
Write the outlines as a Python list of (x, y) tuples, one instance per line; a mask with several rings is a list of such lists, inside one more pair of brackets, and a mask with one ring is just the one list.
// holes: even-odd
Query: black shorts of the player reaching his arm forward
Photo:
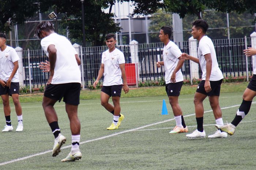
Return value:
[(222, 80), (218, 80), (218, 81), (210, 81), (210, 85), (211, 85), (211, 91), (210, 92), (206, 92), (204, 89), (204, 83), (205, 80), (202, 80), (199, 85), (197, 86), (196, 92), (205, 94), (207, 96), (219, 96), (219, 93), (221, 92), (221, 83)]

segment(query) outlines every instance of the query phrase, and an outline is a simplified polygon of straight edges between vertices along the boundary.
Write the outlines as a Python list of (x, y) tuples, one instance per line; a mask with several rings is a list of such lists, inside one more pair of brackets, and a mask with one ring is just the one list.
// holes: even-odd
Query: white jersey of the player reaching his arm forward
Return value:
[(204, 55), (211, 54), (212, 59), (212, 67), (211, 67), (211, 76), (210, 81), (218, 81), (223, 79), (223, 74), (221, 72), (221, 69), (219, 69), (219, 65), (217, 62), (217, 57), (214, 49), (214, 45), (209, 37), (206, 35), (202, 37), (199, 41), (199, 46), (197, 50), (198, 58), (200, 67), (202, 69), (202, 80), (206, 79), (206, 60), (204, 58)]

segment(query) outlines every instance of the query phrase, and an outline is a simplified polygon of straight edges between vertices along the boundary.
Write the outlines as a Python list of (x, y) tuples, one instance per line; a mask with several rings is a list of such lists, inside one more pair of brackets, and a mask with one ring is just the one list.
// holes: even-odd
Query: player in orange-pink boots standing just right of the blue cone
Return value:
[(169, 133), (175, 134), (188, 132), (188, 128), (185, 124), (180, 105), (178, 104), (178, 97), (183, 84), (183, 75), (180, 69), (185, 60), (180, 57), (182, 53), (178, 46), (170, 41), (171, 36), (171, 27), (161, 27), (159, 39), (165, 46), (163, 48), (163, 61), (158, 61), (157, 67), (160, 68), (162, 65), (165, 67), (165, 90), (176, 121), (175, 128)]

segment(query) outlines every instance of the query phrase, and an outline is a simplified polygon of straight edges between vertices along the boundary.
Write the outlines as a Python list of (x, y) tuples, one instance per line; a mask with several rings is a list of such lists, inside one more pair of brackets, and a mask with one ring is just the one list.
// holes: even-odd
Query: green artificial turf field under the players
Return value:
[[(162, 100), (169, 115), (161, 115)], [(187, 133), (170, 135), (176, 125), (167, 97), (121, 98), (125, 118), (119, 129), (108, 131), (112, 114), (99, 99), (81, 100), (80, 150), (82, 159), (61, 162), (70, 151), (71, 132), (64, 103), (56, 103), (61, 133), (67, 137), (60, 154), (52, 157), (54, 136), (40, 103), (21, 103), (23, 132), (15, 132), (18, 124), (14, 105), (11, 120), (14, 131), (0, 134), (0, 170), (255, 170), (256, 169), (256, 103), (237, 126), (233, 136), (208, 139), (213, 134), (215, 119), (208, 98), (204, 101), (206, 138), (191, 140)], [(231, 122), (242, 101), (242, 93), (221, 93), (219, 102), (223, 121)], [(254, 101), (253, 101), (254, 102)], [(181, 95), (179, 104), (189, 132), (196, 129), (193, 95)], [(0, 105), (1, 128), (5, 125)]]

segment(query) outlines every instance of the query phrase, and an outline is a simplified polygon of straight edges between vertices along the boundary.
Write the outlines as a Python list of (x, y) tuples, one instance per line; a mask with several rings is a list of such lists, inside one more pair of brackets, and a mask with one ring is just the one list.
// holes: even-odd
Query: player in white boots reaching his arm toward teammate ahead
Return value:
[[(186, 135), (189, 138), (206, 136), (203, 129), (203, 101), (207, 96), (209, 98), (216, 124), (223, 125), (222, 112), (219, 106), (219, 93), (221, 90), (223, 75), (221, 69), (219, 69), (214, 45), (211, 39), (206, 35), (207, 29), (208, 24), (205, 20), (199, 19), (193, 22), (191, 33), (193, 38), (199, 41), (197, 50), (198, 58), (189, 56), (186, 53), (182, 53), (181, 56), (184, 59), (192, 60), (195, 63), (200, 64), (202, 69), (202, 81), (199, 83), (194, 97), (197, 129), (193, 133)], [(222, 132), (219, 129), (213, 135), (208, 136), (208, 138), (221, 137), (227, 137), (227, 133)]]

